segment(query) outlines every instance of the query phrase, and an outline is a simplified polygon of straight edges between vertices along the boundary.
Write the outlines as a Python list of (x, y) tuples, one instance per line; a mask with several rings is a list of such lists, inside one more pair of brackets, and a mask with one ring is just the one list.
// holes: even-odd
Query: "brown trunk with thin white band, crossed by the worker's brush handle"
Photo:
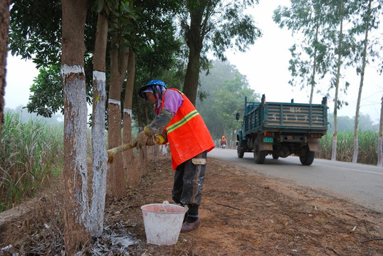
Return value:
[[(117, 23), (117, 20), (115, 20)], [(117, 42), (116, 33), (112, 33), (110, 51), (110, 90), (109, 90), (109, 134), (108, 146), (110, 149), (122, 144), (121, 138), (121, 89), (126, 77), (127, 59), (129, 48), (117, 48), (117, 43), (122, 46), (122, 42)], [(122, 162), (122, 154), (116, 154), (112, 164), (109, 164), (108, 191), (114, 198), (125, 196), (125, 174)]]

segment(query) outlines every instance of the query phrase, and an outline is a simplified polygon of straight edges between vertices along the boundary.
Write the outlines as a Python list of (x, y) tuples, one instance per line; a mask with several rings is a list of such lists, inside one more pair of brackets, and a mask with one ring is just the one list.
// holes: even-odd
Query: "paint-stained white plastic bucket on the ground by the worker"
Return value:
[(141, 206), (147, 242), (152, 245), (177, 243), (187, 208), (165, 201)]

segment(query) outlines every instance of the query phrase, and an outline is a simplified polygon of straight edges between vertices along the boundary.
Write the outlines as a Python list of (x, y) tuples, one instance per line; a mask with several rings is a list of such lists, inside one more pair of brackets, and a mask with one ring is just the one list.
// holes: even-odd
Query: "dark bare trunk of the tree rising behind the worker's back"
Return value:
[(189, 47), (189, 60), (187, 63), (187, 73), (184, 80), (184, 94), (196, 105), (196, 92), (198, 89), (200, 55), (204, 41), (204, 31), (201, 31), (201, 21), (204, 15), (204, 7), (195, 3), (187, 5), (190, 13), (189, 31), (186, 34), (187, 46)]

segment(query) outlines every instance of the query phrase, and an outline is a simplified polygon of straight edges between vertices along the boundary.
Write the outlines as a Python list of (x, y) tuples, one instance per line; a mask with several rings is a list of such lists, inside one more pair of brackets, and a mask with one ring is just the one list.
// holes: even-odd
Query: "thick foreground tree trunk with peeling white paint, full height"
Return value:
[(84, 73), (86, 0), (63, 0), (61, 78), (64, 90), (64, 240), (74, 255), (90, 241), (87, 114)]

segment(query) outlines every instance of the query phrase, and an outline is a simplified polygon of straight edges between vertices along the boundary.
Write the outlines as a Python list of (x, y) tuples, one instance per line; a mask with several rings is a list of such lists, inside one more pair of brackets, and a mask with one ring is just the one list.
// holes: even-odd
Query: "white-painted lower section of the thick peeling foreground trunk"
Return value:
[(66, 218), (76, 225), (83, 225), (83, 232), (86, 233), (89, 228), (86, 161), (88, 108), (85, 100), (84, 68), (63, 64), (61, 78), (64, 84), (64, 182), (65, 193), (70, 195), (65, 195), (68, 200), (65, 206), (68, 209), (73, 208)]

